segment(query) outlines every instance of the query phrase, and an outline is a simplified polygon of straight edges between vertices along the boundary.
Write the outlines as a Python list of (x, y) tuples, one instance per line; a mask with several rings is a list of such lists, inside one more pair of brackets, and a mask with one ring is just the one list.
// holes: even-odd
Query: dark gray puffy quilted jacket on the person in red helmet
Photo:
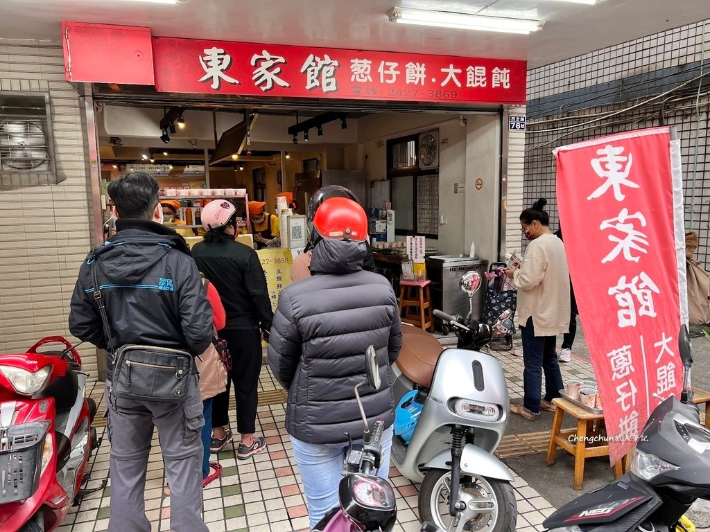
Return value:
[(271, 328), (268, 362), (288, 389), (286, 430), (307, 443), (341, 443), (344, 432), (362, 438), (354, 387), (364, 381), (365, 350), (377, 350), (382, 379), (360, 389), (370, 425), (394, 421), (390, 365), (402, 347), (397, 299), (387, 279), (362, 270), (364, 243), (321, 240), (312, 277), (281, 292)]

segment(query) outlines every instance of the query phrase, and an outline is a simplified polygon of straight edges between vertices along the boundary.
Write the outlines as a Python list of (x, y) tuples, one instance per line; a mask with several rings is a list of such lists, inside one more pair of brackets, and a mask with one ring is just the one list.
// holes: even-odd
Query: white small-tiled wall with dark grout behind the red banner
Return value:
[[(659, 72), (672, 68), (677, 72)], [(704, 179), (710, 172), (710, 143), (707, 138), (710, 77), (700, 83), (688, 84), (683, 91), (669, 95), (682, 98), (677, 101), (667, 99), (667, 96), (648, 101), (661, 92), (679, 86), (681, 80), (673, 77), (678, 72), (685, 76), (684, 79), (710, 72), (710, 21), (675, 28), (528, 71), (525, 205), (532, 205), (539, 197), (547, 198), (547, 211), (552, 219), (550, 226), (553, 230), (557, 229), (552, 149), (620, 131), (659, 126), (662, 110), (664, 125), (675, 126), (682, 141), (686, 230), (698, 233), (699, 248), (695, 257), (710, 270), (710, 179)], [(665, 87), (659, 88), (648, 80), (629, 79), (640, 74), (654, 75)], [(612, 82), (612, 87), (603, 85)], [(579, 94), (568, 94), (581, 89), (589, 89), (589, 94), (581, 97)], [(632, 91), (633, 99), (629, 95)], [(699, 109), (696, 109), (698, 92)], [(577, 96), (577, 99), (570, 96)], [(554, 100), (555, 111), (536, 112), (535, 100), (545, 97)], [(565, 107), (570, 104), (577, 104), (583, 109), (564, 113)], [(586, 123), (636, 104), (640, 106), (633, 111)], [(573, 119), (570, 120), (570, 117)], [(517, 238), (520, 241), (519, 234)]]

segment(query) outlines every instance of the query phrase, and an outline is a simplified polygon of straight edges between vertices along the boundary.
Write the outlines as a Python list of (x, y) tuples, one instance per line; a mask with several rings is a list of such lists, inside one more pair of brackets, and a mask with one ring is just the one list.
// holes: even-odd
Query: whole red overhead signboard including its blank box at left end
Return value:
[[(72, 22), (62, 29), (72, 82), (155, 84), (158, 92), (192, 94), (525, 104), (527, 64), (519, 60), (151, 37), (150, 28)], [(111, 47), (97, 47), (104, 41)]]

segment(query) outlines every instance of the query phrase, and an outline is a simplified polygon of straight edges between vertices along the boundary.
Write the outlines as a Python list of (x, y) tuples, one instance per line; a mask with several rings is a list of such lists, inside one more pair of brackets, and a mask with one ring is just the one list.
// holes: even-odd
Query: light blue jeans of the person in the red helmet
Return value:
[[(393, 427), (382, 433), (382, 462), (377, 476), (387, 479), (390, 470)], [(339, 506), (338, 486), (342, 478), (343, 460), (347, 443), (305, 443), (291, 436), (293, 458), (301, 474), (301, 482), (308, 504), (310, 528), (323, 519), (332, 508)], [(358, 443), (358, 442), (356, 442)]]

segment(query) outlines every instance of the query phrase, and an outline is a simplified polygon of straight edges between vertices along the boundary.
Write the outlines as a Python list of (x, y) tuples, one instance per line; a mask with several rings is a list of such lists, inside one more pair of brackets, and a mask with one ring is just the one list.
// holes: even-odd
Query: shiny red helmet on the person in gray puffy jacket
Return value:
[(356, 201), (329, 198), (313, 216), (313, 228), (320, 238), (334, 240), (367, 240), (367, 215)]

